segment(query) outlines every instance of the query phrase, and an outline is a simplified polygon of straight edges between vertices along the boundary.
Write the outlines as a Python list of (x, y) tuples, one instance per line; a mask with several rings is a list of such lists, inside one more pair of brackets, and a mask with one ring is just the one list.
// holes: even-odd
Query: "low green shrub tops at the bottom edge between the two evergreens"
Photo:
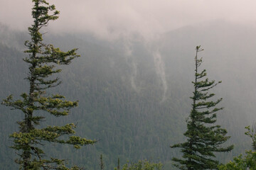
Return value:
[[(122, 166), (122, 170), (161, 170), (163, 167), (163, 164), (161, 162), (159, 163), (151, 163), (147, 160), (141, 161), (137, 163), (131, 163), (131, 164), (124, 164)], [(114, 168), (117, 170), (118, 168)]]

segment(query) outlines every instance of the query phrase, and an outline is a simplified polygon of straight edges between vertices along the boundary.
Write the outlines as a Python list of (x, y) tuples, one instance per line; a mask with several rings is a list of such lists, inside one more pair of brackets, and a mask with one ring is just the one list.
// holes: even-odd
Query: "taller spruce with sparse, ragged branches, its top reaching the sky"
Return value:
[[(18, 121), (19, 131), (10, 135), (14, 142), (11, 148), (18, 154), (15, 162), (19, 164), (20, 169), (68, 169), (65, 166), (66, 160), (47, 157), (43, 145), (50, 142), (73, 145), (79, 149), (96, 141), (75, 136), (73, 123), (42, 128), (41, 122), (46, 120), (46, 113), (55, 117), (65, 116), (69, 114), (70, 108), (78, 106), (78, 101), (67, 101), (60, 94), (49, 94), (48, 89), (60, 84), (58, 77), (52, 77), (61, 71), (55, 67), (68, 65), (79, 55), (76, 54), (77, 49), (62, 52), (53, 45), (43, 43), (41, 28), (48, 26), (49, 21), (56, 20), (59, 11), (46, 0), (32, 1), (33, 25), (28, 28), (31, 40), (25, 42), (28, 57), (23, 59), (28, 64), (29, 72), (26, 79), (29, 91), (21, 94), (20, 99), (14, 100), (11, 95), (2, 101), (3, 105), (24, 115), (23, 120)], [(74, 166), (71, 169), (79, 168)]]

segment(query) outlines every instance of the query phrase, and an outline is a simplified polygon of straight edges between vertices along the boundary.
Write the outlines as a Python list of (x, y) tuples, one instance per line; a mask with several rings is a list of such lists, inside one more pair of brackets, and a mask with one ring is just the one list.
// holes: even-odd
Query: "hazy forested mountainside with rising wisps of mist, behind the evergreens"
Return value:
[[(9, 94), (18, 97), (27, 89), (22, 49), (28, 35), (0, 27), (0, 98)], [(218, 114), (218, 123), (227, 128), (235, 149), (219, 159), (227, 161), (250, 148), (244, 127), (255, 121), (254, 28), (215, 21), (171, 31), (150, 43), (141, 38), (107, 42), (85, 34), (46, 34), (45, 40), (62, 50), (78, 47), (81, 55), (63, 67), (63, 84), (52, 89), (79, 100), (79, 107), (68, 118), (49, 118), (46, 124), (74, 122), (78, 135), (99, 140), (78, 151), (49, 147), (53, 154), (87, 169), (100, 167), (100, 154), (106, 169), (116, 166), (118, 157), (122, 163), (159, 159), (168, 169), (171, 157), (179, 153), (169, 146), (184, 140), (196, 45), (205, 49), (200, 56), (209, 78), (223, 81), (214, 91), (218, 98), (224, 98), (221, 105), (225, 109)], [(4, 106), (0, 111), (0, 166), (11, 169), (14, 153), (8, 148), (8, 136), (17, 129), (15, 123), (22, 115)]]

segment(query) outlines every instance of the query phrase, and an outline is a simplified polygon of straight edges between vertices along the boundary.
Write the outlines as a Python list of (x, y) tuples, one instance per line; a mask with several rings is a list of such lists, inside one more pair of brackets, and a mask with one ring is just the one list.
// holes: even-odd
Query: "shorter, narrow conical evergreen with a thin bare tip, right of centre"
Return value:
[[(222, 98), (216, 101), (210, 101), (215, 94), (209, 93), (221, 81), (209, 81), (206, 77), (206, 69), (202, 72), (198, 68), (202, 64), (202, 58), (198, 59), (198, 52), (203, 51), (201, 46), (196, 47), (196, 69), (193, 100), (191, 113), (187, 123), (187, 130), (184, 135), (187, 137), (186, 142), (173, 145), (171, 148), (181, 148), (183, 159), (173, 158), (178, 169), (217, 169), (219, 162), (214, 159), (215, 152), (229, 152), (233, 145), (221, 147), (230, 137), (225, 136), (227, 130), (220, 128), (220, 125), (214, 125), (216, 122), (216, 112), (223, 108), (216, 107)], [(204, 78), (204, 79), (203, 79)]]

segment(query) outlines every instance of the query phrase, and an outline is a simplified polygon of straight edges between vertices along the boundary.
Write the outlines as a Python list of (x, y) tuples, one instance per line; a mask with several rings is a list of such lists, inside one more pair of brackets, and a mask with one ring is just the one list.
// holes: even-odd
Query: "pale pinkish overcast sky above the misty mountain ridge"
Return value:
[[(60, 11), (50, 29), (86, 31), (102, 38), (164, 33), (189, 24), (223, 19), (256, 25), (255, 0), (50, 0)], [(30, 0), (0, 0), (0, 22), (31, 25)]]

